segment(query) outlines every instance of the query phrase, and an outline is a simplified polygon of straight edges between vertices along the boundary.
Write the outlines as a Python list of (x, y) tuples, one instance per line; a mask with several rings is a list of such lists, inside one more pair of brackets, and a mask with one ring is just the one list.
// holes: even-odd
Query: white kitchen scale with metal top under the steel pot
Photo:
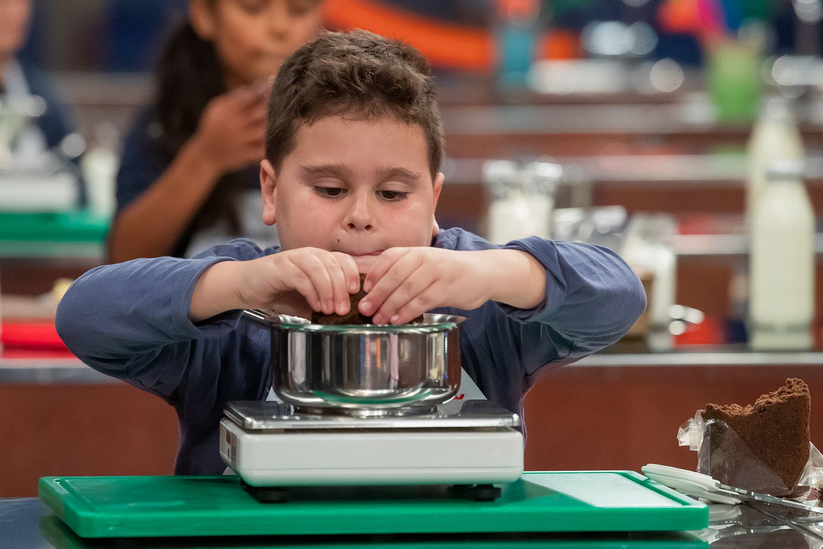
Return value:
[(495, 499), (500, 489), (491, 485), (523, 472), (520, 418), (486, 400), (454, 403), (423, 415), (361, 417), (229, 402), (220, 454), (261, 500), (285, 500), (289, 486), (415, 484), (469, 485), (466, 495)]

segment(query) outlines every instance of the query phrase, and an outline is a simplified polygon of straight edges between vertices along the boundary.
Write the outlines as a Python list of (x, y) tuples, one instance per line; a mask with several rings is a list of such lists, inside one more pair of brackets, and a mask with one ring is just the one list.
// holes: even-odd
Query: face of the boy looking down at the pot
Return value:
[(263, 161), (263, 221), (282, 249), (343, 252), (366, 272), (396, 246), (428, 246), (443, 174), (431, 180), (423, 130), (391, 117), (328, 116), (297, 133), (279, 173)]

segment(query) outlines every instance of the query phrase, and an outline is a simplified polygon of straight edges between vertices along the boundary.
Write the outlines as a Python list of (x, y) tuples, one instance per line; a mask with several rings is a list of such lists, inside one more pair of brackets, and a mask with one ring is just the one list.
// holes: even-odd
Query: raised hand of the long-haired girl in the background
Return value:
[(220, 174), (263, 159), (270, 85), (259, 81), (209, 101), (192, 140)]

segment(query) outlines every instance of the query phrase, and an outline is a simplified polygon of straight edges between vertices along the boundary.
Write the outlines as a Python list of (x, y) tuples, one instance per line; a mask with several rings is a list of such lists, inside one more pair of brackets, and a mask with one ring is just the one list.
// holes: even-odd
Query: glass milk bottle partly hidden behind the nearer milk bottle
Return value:
[(766, 168), (779, 161), (802, 161), (803, 142), (787, 100), (773, 97), (766, 102), (748, 145), (746, 177), (746, 223), (751, 224), (755, 205), (765, 187)]

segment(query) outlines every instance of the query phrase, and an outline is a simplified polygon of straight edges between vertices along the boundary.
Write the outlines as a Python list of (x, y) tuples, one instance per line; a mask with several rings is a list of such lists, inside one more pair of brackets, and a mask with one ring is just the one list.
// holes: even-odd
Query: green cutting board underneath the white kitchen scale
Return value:
[(81, 537), (700, 530), (709, 508), (630, 471), (526, 472), (490, 502), (447, 486), (316, 486), (258, 503), (239, 477), (44, 477)]

